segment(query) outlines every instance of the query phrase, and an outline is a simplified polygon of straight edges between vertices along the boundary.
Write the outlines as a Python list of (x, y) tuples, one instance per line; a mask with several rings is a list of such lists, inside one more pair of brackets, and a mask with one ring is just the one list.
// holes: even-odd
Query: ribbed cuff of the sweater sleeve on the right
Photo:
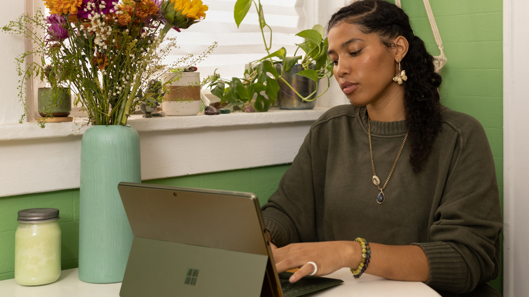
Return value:
[(462, 293), (468, 290), (470, 274), (467, 263), (451, 245), (444, 242), (413, 243), (420, 246), (430, 264), (427, 285), (434, 289)]

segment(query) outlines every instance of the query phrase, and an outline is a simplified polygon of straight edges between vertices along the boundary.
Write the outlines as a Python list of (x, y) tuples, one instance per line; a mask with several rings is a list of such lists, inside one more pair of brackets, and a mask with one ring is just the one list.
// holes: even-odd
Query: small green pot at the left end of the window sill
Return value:
[(39, 115), (67, 117), (71, 112), (69, 88), (39, 88)]

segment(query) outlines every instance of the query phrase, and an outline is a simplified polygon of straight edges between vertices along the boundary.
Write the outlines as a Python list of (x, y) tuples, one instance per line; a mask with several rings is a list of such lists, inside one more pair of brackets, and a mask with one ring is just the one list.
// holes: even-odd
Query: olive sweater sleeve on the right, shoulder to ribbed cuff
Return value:
[(458, 132), (452, 166), (430, 243), (416, 243), (430, 263), (434, 289), (468, 293), (499, 273), (502, 218), (494, 160), (484, 129), (472, 118)]

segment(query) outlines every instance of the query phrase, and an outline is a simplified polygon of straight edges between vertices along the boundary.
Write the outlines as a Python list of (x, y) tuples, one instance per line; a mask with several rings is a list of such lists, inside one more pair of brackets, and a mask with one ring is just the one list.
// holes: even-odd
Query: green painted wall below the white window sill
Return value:
[[(289, 164), (184, 177), (144, 183), (256, 193), (261, 204), (277, 190)], [(79, 258), (79, 189), (0, 197), (0, 281), (14, 278), (16, 214), (21, 209), (52, 207), (60, 210), (62, 270), (75, 268)]]

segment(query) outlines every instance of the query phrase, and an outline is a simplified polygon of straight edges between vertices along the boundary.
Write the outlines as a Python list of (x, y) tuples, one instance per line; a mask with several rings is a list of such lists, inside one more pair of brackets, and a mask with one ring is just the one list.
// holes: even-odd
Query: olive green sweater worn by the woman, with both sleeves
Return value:
[[(444, 107), (441, 115), (442, 130), (421, 171), (413, 171), (406, 143), (379, 204), (366, 108), (331, 108), (312, 125), (279, 189), (262, 207), (272, 242), (281, 247), (363, 237), (418, 245), (430, 263), (426, 284), (443, 296), (499, 296), (486, 285), (499, 272), (502, 228), (487, 136), (469, 115)], [(405, 133), (405, 121), (371, 121), (382, 185)]]

